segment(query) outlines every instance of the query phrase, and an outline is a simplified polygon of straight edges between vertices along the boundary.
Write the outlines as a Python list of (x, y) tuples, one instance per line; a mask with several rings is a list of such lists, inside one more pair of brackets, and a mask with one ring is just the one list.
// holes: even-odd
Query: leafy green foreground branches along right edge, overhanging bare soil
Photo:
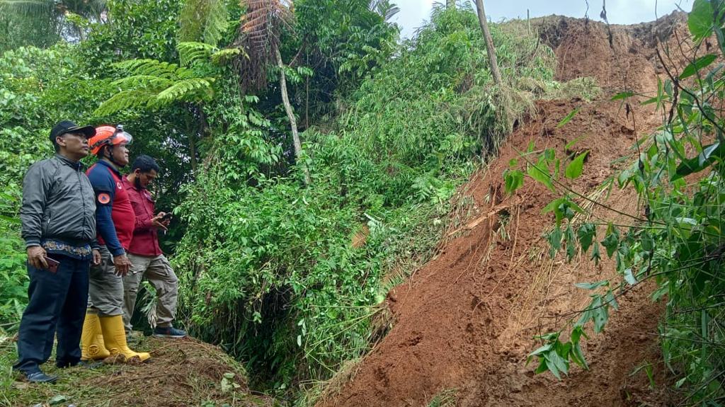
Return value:
[[(633, 154), (627, 157), (631, 165), (602, 185), (603, 190), (615, 185), (634, 190), (640, 202), (637, 213), (617, 213), (605, 202), (592, 201), (566, 187), (562, 180), (581, 175), (587, 153), (569, 159), (557, 158), (551, 149), (538, 159), (526, 154), (526, 169), (514, 166), (506, 173), (507, 190), (520, 187), (526, 171), (532, 179), (565, 193), (544, 209), (556, 218), (556, 226), (547, 235), (552, 255), (563, 251), (571, 261), (581, 250), (592, 261), (599, 261), (606, 253), (616, 259), (620, 275), (613, 280), (577, 284), (592, 290), (592, 301), (569, 322), (571, 332), (540, 337), (544, 345), (530, 355), (539, 361), (537, 372), (549, 371), (560, 377), (568, 374), (570, 362), (587, 368), (580, 341), (587, 337), (589, 322), (594, 332), (601, 332), (610, 310), (618, 309), (617, 298), (653, 280), (653, 300), (667, 303), (666, 317), (660, 324), (663, 358), (678, 378), (675, 387), (687, 392), (683, 403), (722, 405), (725, 117), (721, 100), (725, 76), (723, 65), (716, 64), (716, 59), (725, 55), (724, 12), (722, 1), (695, 1), (688, 20), (695, 48), (703, 49), (705, 39), (713, 34), (718, 47), (713, 47), (713, 54), (692, 59), (682, 72), (663, 62), (670, 78), (660, 81), (655, 97), (642, 98), (643, 104), (656, 106), (663, 124), (638, 140)], [(637, 96), (626, 92), (614, 99), (627, 104), (629, 112), (629, 104), (637, 101)], [(573, 114), (576, 111), (561, 125), (566, 125)], [(589, 210), (583, 209), (591, 204), (609, 210), (611, 220), (603, 224), (581, 220), (591, 219)]]

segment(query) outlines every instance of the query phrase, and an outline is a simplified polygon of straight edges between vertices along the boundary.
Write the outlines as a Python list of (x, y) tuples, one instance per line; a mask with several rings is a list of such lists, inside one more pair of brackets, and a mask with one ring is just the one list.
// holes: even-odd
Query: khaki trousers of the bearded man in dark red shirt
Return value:
[(131, 270), (123, 277), (123, 324), (126, 332), (131, 331), (131, 316), (136, 308), (136, 295), (141, 280), (146, 277), (156, 289), (156, 325), (170, 327), (176, 315), (176, 299), (178, 297), (178, 279), (168, 259), (161, 256), (138, 256), (128, 253)]

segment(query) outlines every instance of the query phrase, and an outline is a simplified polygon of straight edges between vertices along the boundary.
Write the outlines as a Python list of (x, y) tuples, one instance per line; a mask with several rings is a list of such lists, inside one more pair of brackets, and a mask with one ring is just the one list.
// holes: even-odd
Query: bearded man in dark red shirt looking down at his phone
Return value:
[(136, 306), (138, 285), (146, 277), (158, 295), (154, 336), (184, 337), (186, 332), (171, 324), (176, 314), (178, 279), (159, 248), (158, 231), (166, 230), (170, 214), (159, 212), (154, 215), (154, 199), (146, 189), (158, 172), (159, 165), (156, 161), (150, 156), (141, 155), (133, 161), (130, 174), (123, 177), (123, 188), (128, 193), (133, 211), (136, 212), (133, 239), (128, 248), (131, 269), (123, 277), (123, 324), (128, 335), (132, 328), (131, 316)]

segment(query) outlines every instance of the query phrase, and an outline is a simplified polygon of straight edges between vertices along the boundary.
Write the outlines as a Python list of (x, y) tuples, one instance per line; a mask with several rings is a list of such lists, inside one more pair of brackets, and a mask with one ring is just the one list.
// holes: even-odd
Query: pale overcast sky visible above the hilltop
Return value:
[[(457, 0), (463, 3), (468, 0)], [(602, 0), (589, 1), (589, 18), (600, 20)], [(431, 15), (434, 0), (392, 0), (400, 7), (400, 12), (394, 21), (402, 27), (401, 35), (410, 37), (416, 28), (423, 25)], [(445, 0), (436, 2), (445, 3)], [(679, 4), (682, 9), (689, 12), (692, 9), (692, 0), (609, 0), (607, 1), (607, 17), (612, 24), (634, 24), (636, 22), (655, 20), (655, 4), (657, 14), (664, 14), (676, 9)], [(541, 17), (550, 14), (563, 14), (570, 17), (584, 17), (587, 12), (586, 0), (484, 0), (486, 15), (494, 22), (514, 18), (526, 18), (526, 9), (531, 17)]]

